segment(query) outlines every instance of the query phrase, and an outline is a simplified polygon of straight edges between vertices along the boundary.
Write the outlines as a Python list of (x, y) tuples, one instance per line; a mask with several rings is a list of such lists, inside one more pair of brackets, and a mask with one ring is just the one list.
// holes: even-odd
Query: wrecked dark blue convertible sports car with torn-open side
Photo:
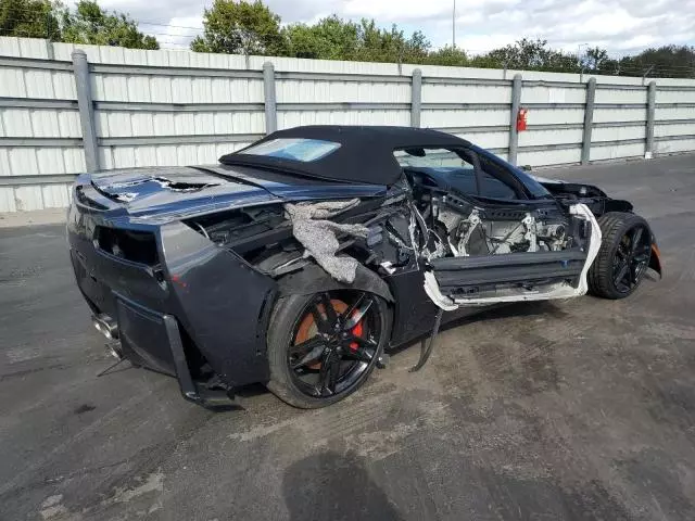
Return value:
[(623, 298), (661, 272), (629, 202), (415, 128), (299, 127), (214, 166), (86, 174), (67, 229), (114, 354), (211, 407), (257, 382), (326, 406), (426, 338), (419, 369), (444, 321)]

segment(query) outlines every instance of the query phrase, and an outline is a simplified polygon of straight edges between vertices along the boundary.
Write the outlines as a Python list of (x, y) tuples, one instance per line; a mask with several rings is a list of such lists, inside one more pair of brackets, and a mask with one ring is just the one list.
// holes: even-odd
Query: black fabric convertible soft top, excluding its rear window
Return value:
[(319, 139), (340, 143), (340, 148), (324, 157), (309, 162), (268, 155), (240, 154), (240, 151), (223, 155), (219, 162), (224, 165), (265, 167), (336, 181), (392, 185), (402, 173), (401, 166), (393, 156), (394, 150), (412, 147), (438, 148), (470, 144), (451, 134), (427, 128), (313, 125), (278, 130), (251, 147), (279, 138)]

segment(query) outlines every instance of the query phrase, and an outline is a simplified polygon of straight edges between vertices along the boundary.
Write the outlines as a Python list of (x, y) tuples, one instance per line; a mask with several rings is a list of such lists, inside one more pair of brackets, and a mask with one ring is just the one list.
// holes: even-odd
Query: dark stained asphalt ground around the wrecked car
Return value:
[(666, 278), (467, 319), (313, 411), (97, 378), (63, 227), (0, 229), (0, 519), (695, 519), (695, 156), (539, 174), (631, 200)]

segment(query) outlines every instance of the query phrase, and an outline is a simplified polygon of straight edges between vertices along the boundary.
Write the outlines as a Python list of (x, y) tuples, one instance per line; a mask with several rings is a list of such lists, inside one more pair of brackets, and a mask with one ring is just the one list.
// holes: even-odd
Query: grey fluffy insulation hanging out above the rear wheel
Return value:
[(359, 263), (349, 256), (336, 255), (340, 246), (336, 236), (366, 238), (368, 229), (363, 225), (339, 224), (329, 219), (357, 204), (358, 199), (285, 205), (285, 212), (292, 221), (292, 233), (305, 247), (304, 256), (314, 257), (332, 278), (348, 283), (355, 280)]

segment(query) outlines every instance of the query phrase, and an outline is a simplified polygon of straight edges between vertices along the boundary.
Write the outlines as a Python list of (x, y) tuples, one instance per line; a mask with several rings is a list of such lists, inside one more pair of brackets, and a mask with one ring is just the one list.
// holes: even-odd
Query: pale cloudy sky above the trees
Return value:
[[(212, 0), (100, 0), (129, 13), (164, 48), (187, 47)], [(265, 0), (283, 24), (337, 14), (421, 30), (434, 48), (452, 42), (454, 0)], [(695, 45), (695, 0), (455, 0), (456, 46), (481, 53), (522, 37), (577, 52), (598, 46), (621, 55), (661, 45)], [(148, 25), (146, 22), (152, 23)], [(154, 25), (157, 24), (157, 25)]]

